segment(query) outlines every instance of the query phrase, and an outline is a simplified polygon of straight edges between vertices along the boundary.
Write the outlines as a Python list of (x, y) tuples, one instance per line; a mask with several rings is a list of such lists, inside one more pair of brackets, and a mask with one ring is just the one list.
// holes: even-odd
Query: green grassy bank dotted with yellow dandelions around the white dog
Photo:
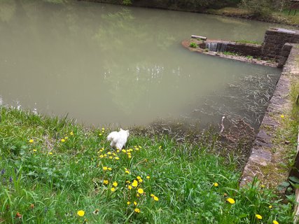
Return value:
[[(291, 223), (291, 202), (258, 181), (239, 189), (234, 158), (225, 162), (209, 148), (137, 134), (125, 151), (113, 151), (110, 131), (2, 108), (0, 222), (252, 224), (259, 214), (263, 223)], [(137, 176), (143, 181), (129, 190)], [(145, 192), (139, 197), (138, 188)]]

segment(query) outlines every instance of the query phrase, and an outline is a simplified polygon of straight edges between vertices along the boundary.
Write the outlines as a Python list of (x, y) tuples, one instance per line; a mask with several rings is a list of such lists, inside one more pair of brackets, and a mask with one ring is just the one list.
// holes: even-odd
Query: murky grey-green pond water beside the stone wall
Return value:
[[(263, 41), (273, 26), (263, 22), (82, 1), (20, 0), (0, 1), (0, 21), (4, 104), (50, 115), (69, 113), (85, 124), (143, 125), (156, 118), (193, 117), (204, 102), (223, 102), (221, 92), (228, 94), (231, 83), (269, 73), (276, 80), (280, 72), (181, 46), (191, 34)], [(235, 102), (228, 106), (240, 113)]]

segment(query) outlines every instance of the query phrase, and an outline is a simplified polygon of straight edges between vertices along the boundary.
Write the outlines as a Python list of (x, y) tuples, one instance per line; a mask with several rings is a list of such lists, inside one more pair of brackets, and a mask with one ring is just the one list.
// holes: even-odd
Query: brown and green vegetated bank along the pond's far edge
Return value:
[[(209, 13), (237, 18), (277, 22), (286, 25), (299, 26), (299, 13), (291, 7), (290, 0), (83, 0), (100, 3), (124, 4), (149, 8), (164, 8), (188, 12)], [(295, 15), (294, 15), (295, 14)]]

